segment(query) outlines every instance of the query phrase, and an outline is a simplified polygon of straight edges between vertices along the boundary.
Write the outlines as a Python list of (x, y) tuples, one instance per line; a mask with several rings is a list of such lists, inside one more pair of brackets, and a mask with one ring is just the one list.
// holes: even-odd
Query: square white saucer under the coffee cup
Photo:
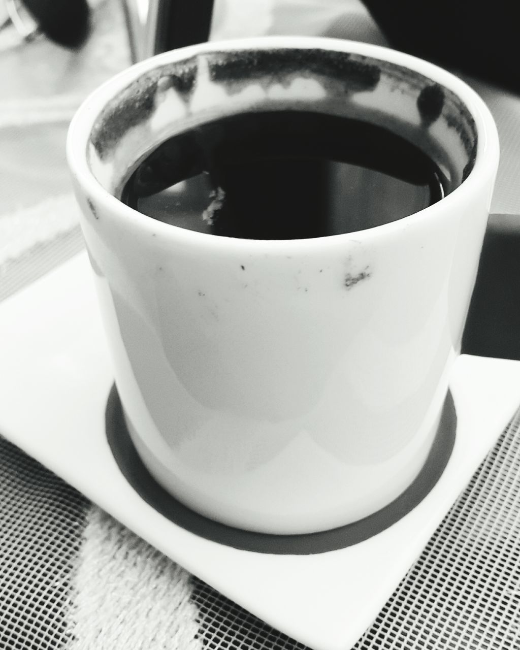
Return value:
[(316, 650), (363, 634), (520, 404), (520, 362), (461, 356), (450, 392), (456, 437), (422, 502), (382, 532), (317, 554), (238, 550), (154, 510), (105, 435), (112, 369), (85, 253), (0, 304), (0, 434), (172, 560)]

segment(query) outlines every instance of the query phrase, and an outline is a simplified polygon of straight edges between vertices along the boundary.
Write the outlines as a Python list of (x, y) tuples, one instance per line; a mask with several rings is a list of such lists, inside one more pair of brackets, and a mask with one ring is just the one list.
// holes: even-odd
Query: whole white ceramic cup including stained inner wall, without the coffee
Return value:
[[(172, 226), (116, 198), (172, 134), (272, 108), (385, 125), (458, 187), (389, 224), (275, 241)], [(359, 42), (196, 45), (86, 99), (68, 161), (125, 419), (155, 479), (211, 519), (275, 534), (352, 523), (398, 497), (437, 430), (498, 160), (471, 88)]]

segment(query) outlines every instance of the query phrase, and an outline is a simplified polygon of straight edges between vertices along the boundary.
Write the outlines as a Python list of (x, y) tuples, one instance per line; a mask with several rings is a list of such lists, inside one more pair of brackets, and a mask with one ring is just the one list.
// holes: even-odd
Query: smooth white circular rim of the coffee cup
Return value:
[[(131, 81), (134, 81), (136, 78), (159, 65), (188, 59), (205, 52), (248, 51), (250, 49), (274, 48), (324, 49), (344, 51), (346, 53), (350, 52), (409, 68), (414, 72), (428, 77), (434, 83), (445, 86), (445, 88), (454, 92), (461, 99), (467, 110), (469, 110), (476, 126), (476, 133), (478, 134), (476, 157), (470, 174), (450, 194), (437, 201), (437, 203), (428, 205), (428, 207), (416, 213), (404, 216), (393, 222), (388, 222), (380, 226), (372, 226), (352, 233), (324, 235), (309, 239), (243, 239), (239, 237), (217, 237), (211, 233), (193, 231), (152, 218), (143, 218), (141, 213), (129, 207), (129, 205), (126, 205), (102, 187), (101, 183), (99, 183), (98, 179), (92, 173), (92, 170), (90, 170), (86, 160), (85, 152), (88, 146), (88, 140), (99, 112), (111, 98), (129, 85)], [(325, 244), (326, 242), (338, 242), (360, 236), (363, 239), (369, 239), (383, 234), (387, 235), (396, 230), (408, 227), (410, 221), (423, 222), (424, 220), (434, 219), (439, 213), (444, 213), (446, 210), (460, 209), (463, 205), (467, 204), (469, 197), (478, 188), (482, 188), (482, 184), (489, 177), (494, 179), (499, 162), (499, 135), (490, 110), (473, 88), (453, 73), (426, 60), (389, 47), (383, 47), (382, 45), (324, 36), (256, 36), (188, 45), (187, 47), (164, 52), (149, 59), (142, 60), (125, 68), (110, 79), (107, 79), (107, 81), (98, 86), (96, 90), (86, 97), (75, 112), (68, 128), (66, 157), (72, 176), (75, 177), (86, 195), (94, 203), (105, 205), (109, 209), (112, 218), (125, 220), (129, 227), (135, 227), (145, 233), (148, 231), (149, 233), (160, 234), (162, 239), (173, 238), (177, 241), (183, 240), (185, 244), (214, 246), (220, 250), (230, 250), (239, 246), (240, 250), (243, 251), (244, 246), (247, 245), (250, 250), (265, 251), (268, 248), (272, 252), (276, 250), (286, 252), (288, 248), (293, 249), (295, 246), (299, 250), (302, 247), (307, 248), (309, 246), (315, 248), (317, 242)], [(491, 195), (489, 196), (490, 201)], [(489, 205), (487, 207), (489, 209)]]

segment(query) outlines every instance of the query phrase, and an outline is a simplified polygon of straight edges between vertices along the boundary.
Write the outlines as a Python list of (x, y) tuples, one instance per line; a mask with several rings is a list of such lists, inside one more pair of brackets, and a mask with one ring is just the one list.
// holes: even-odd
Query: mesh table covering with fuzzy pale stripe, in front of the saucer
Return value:
[[(114, 603), (118, 613), (110, 616)], [(159, 629), (178, 630), (159, 643), (150, 619)], [(0, 650), (123, 647), (118, 620), (129, 650), (185, 650), (192, 643), (211, 650), (304, 649), (187, 576), (0, 437)], [(356, 650), (518, 647), (520, 412)]]

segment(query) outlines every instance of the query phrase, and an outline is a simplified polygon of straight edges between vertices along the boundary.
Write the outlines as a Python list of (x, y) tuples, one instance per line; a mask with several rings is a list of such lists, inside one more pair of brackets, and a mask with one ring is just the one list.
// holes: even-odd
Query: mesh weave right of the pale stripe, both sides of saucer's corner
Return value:
[[(356, 650), (520, 647), (519, 429), (517, 413)], [(194, 599), (211, 650), (304, 649), (199, 580)]]

